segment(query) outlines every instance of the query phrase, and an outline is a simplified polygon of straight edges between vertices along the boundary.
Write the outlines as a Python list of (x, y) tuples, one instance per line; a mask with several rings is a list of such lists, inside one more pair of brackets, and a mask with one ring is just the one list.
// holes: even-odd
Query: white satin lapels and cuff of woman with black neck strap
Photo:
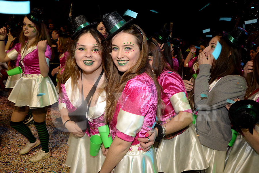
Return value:
[[(80, 93), (79, 93), (79, 89), (77, 87), (77, 85), (74, 86), (75, 90), (72, 91), (71, 88), (71, 78), (69, 78), (66, 83), (65, 83), (65, 89), (66, 89), (66, 94), (68, 96), (69, 101), (71, 102), (71, 104), (75, 107), (78, 108), (81, 104), (82, 101), (80, 100)], [(80, 96), (79, 96), (80, 95)], [(106, 106), (106, 93), (105, 91), (103, 91), (100, 96), (98, 97), (98, 101), (96, 103), (95, 110), (93, 111), (94, 107), (89, 108), (89, 114), (87, 116), (87, 119), (91, 122), (93, 122), (93, 119), (96, 119), (98, 117), (100, 117), (105, 110), (105, 106)], [(66, 105), (63, 104), (59, 104), (59, 110), (62, 108), (66, 108)]]

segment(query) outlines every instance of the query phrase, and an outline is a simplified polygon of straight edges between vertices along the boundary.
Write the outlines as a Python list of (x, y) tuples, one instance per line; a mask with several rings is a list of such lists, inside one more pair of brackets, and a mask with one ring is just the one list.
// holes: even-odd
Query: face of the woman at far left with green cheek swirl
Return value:
[(35, 24), (27, 17), (23, 19), (22, 30), (23, 30), (24, 36), (28, 37), (29, 39), (37, 37), (38, 35), (38, 31), (36, 29)]

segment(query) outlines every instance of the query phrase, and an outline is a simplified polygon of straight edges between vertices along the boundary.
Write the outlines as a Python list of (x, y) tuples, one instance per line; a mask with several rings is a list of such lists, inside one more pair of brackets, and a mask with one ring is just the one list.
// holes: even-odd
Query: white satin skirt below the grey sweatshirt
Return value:
[(201, 146), (204, 155), (209, 163), (209, 168), (205, 170), (206, 173), (223, 173), (225, 166), (226, 151), (218, 151), (212, 148)]

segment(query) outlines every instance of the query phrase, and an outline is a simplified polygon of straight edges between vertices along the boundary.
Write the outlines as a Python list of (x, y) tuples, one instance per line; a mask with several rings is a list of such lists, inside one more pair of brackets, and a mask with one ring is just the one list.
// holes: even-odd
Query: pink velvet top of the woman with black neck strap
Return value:
[[(73, 106), (73, 104), (70, 102), (68, 95), (66, 93), (65, 84), (61, 84), (61, 88), (62, 88), (62, 91), (59, 93), (58, 104), (60, 104), (61, 102), (65, 103), (66, 109), (68, 110), (68, 112), (75, 111), (77, 108), (75, 106)], [(95, 135), (95, 134), (99, 133), (98, 127), (106, 125), (105, 119), (104, 119), (104, 113), (101, 116), (99, 116), (98, 118), (93, 119), (92, 121), (93, 122), (88, 121), (89, 126), (90, 126), (90, 133), (88, 132), (88, 130), (85, 131), (85, 133), (88, 135), (88, 137), (90, 137), (91, 134)]]

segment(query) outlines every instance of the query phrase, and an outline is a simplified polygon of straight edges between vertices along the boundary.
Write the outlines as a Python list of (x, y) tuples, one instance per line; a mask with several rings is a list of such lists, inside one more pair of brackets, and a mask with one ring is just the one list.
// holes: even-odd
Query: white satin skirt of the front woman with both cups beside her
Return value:
[(154, 147), (147, 152), (138, 148), (139, 144), (130, 146), (113, 173), (158, 173)]

